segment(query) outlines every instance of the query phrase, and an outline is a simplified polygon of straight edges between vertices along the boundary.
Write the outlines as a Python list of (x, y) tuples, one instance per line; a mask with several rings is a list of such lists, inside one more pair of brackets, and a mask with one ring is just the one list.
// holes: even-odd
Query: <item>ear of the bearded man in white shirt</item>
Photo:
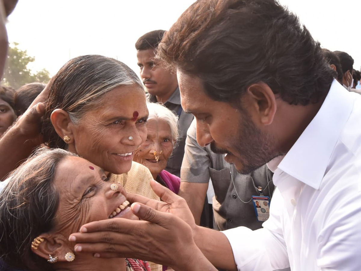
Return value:
[(270, 87), (263, 82), (255, 83), (247, 88), (247, 93), (250, 99), (247, 101), (247, 107), (252, 107), (252, 117), (260, 124), (271, 124), (277, 111), (277, 102)]

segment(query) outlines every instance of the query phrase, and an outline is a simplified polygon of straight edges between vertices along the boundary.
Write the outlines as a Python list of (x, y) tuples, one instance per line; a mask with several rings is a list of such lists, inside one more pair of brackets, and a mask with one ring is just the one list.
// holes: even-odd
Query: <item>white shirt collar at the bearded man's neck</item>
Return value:
[(332, 82), (316, 116), (279, 163), (278, 168), (319, 189), (332, 151), (353, 107), (354, 95), (336, 80)]

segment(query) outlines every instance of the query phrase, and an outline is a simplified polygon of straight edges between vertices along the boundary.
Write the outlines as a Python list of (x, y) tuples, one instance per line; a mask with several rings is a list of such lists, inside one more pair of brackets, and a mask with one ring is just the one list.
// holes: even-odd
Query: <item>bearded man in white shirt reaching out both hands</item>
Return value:
[(177, 68), (199, 145), (241, 173), (274, 171), (270, 217), (256, 231), (202, 228), (152, 183), (163, 203), (128, 196), (146, 221), (86, 224), (70, 236), (75, 251), (182, 271), (361, 270), (361, 96), (333, 79), (298, 18), (274, 0), (199, 0), (158, 48)]

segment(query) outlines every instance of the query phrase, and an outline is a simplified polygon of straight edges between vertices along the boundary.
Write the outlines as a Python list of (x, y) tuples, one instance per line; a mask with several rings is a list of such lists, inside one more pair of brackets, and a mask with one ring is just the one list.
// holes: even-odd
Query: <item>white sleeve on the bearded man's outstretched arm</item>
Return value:
[[(277, 189), (270, 217), (261, 229), (238, 227), (223, 231), (230, 242), (239, 271), (290, 270), (282, 231), (282, 198)], [(279, 199), (279, 201), (278, 201)]]

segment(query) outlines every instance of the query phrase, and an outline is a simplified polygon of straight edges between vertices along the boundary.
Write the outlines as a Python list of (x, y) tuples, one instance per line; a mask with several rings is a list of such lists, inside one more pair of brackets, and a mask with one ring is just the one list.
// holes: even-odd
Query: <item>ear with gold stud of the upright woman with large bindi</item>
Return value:
[(73, 135), (73, 122), (70, 120), (68, 112), (63, 109), (55, 109), (50, 116), (51, 123), (54, 126), (56, 133), (61, 137), (69, 137), (67, 144), (71, 144), (74, 141)]

